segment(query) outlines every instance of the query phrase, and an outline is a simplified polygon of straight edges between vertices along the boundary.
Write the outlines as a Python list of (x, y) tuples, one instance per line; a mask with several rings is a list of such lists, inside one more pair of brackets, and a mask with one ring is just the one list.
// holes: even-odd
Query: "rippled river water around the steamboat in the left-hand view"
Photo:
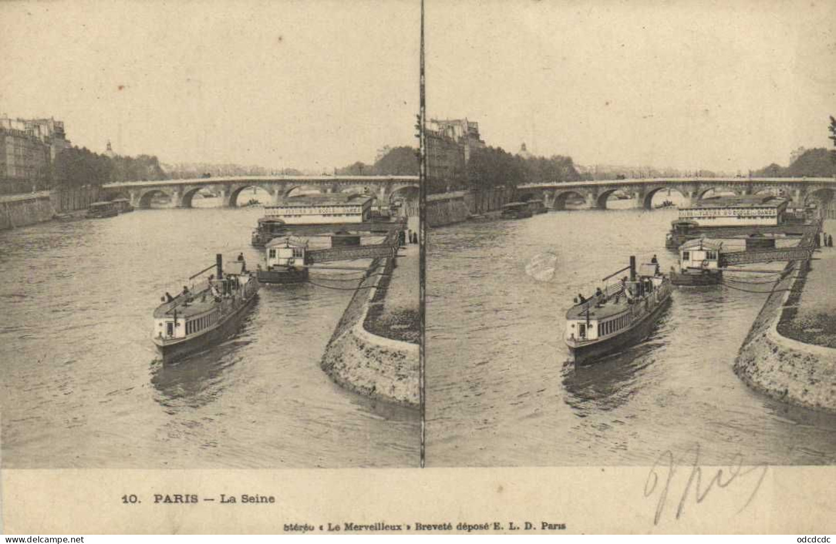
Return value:
[(261, 213), (142, 210), (0, 232), (3, 468), (417, 466), (417, 410), (319, 369), (350, 291), (263, 286), (236, 337), (157, 360), (161, 294), (217, 252), (258, 262)]

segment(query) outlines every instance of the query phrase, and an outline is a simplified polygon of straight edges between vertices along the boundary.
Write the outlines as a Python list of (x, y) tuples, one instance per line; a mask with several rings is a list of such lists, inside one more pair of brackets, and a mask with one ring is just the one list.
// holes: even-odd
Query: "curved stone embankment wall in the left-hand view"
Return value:
[(370, 304), (385, 297), (380, 274), (395, 267), (390, 257), (375, 259), (351, 298), (320, 366), (335, 382), (359, 394), (395, 404), (418, 407), (418, 344), (370, 333), (364, 328)]

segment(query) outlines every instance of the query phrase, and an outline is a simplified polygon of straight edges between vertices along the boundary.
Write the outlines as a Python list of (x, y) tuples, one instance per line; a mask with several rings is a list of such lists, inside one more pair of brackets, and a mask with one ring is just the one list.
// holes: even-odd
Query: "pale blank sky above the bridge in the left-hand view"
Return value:
[(164, 162), (333, 170), (417, 145), (420, 4), (0, 3), (0, 114)]

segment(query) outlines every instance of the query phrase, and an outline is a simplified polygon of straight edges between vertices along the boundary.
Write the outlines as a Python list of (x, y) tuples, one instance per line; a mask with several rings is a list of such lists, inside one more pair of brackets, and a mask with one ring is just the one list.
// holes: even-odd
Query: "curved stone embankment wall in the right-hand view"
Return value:
[(777, 332), (804, 262), (788, 264), (785, 276), (758, 313), (735, 359), (735, 373), (772, 398), (836, 412), (836, 349), (798, 342)]

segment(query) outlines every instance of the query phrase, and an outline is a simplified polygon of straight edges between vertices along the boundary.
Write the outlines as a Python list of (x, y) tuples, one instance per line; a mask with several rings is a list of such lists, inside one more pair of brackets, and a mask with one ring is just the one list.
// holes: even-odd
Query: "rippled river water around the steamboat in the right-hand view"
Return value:
[(431, 231), (427, 465), (650, 465), (697, 446), (705, 464), (836, 462), (836, 416), (768, 399), (732, 370), (764, 294), (676, 288), (647, 341), (567, 363), (573, 297), (630, 255), (655, 253), (669, 269), (675, 213), (562, 211)]

